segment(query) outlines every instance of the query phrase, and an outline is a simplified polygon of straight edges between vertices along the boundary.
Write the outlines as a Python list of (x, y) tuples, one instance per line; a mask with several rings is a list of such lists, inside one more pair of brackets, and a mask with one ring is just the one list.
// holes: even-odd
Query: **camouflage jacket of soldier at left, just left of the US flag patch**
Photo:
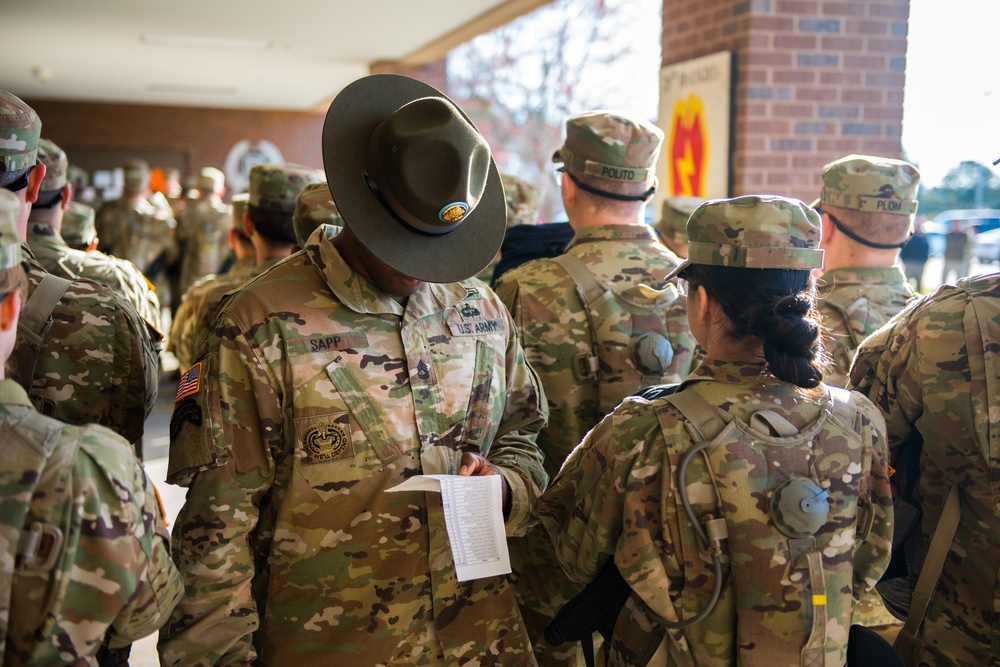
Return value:
[[(27, 246), (21, 250), (30, 299), (47, 272)], [(42, 414), (101, 424), (138, 442), (156, 402), (160, 335), (124, 297), (86, 279), (73, 281), (51, 320), (37, 359), (19, 329), (8, 377), (27, 389)]]

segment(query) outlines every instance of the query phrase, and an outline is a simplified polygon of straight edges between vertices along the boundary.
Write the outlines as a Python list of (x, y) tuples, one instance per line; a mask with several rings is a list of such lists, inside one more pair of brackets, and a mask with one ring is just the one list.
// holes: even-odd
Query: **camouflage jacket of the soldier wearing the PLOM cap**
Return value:
[(900, 266), (830, 269), (817, 283), (826, 349), (833, 367), (823, 381), (847, 386), (847, 373), (861, 341), (917, 297)]

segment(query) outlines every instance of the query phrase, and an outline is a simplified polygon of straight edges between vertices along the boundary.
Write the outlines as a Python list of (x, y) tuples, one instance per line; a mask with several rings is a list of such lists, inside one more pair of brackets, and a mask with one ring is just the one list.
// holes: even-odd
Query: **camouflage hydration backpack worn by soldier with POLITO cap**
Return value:
[(598, 420), (640, 387), (680, 379), (668, 370), (674, 350), (667, 311), (680, 296), (674, 285), (635, 285), (617, 293), (575, 255), (553, 261), (576, 283), (590, 324), (590, 354), (576, 355), (573, 371), (581, 382), (597, 385)]

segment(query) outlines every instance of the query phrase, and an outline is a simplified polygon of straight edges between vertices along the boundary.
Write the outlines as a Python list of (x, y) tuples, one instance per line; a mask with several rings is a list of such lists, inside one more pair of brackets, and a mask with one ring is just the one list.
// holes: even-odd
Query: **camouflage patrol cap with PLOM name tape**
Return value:
[(848, 155), (823, 167), (820, 204), (871, 213), (917, 212), (920, 172), (909, 162), (874, 155)]

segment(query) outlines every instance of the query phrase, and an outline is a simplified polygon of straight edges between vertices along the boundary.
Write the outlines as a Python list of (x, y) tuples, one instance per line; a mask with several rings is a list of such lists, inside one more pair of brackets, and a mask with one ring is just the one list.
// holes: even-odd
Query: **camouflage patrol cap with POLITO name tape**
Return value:
[[(647, 201), (656, 192), (656, 159), (663, 131), (651, 123), (634, 121), (610, 111), (591, 111), (566, 121), (566, 140), (552, 161), (563, 163), (566, 174), (581, 190), (620, 201)], [(587, 177), (622, 184), (627, 192), (608, 192)]]

